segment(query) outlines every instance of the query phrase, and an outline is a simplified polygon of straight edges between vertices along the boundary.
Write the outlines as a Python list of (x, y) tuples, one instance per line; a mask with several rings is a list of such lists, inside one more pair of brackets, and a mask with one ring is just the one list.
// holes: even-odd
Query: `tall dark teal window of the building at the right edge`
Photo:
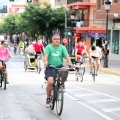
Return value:
[(113, 30), (112, 53), (119, 54), (119, 30)]

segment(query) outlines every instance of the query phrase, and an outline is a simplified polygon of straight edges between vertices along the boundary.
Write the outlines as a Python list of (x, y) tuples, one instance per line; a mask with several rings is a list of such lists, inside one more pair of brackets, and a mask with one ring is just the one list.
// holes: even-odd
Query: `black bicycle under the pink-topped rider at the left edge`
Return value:
[(4, 90), (6, 90), (6, 64), (5, 61), (2, 60), (2, 65), (3, 68), (0, 71), (0, 87), (2, 87), (2, 85), (4, 84)]

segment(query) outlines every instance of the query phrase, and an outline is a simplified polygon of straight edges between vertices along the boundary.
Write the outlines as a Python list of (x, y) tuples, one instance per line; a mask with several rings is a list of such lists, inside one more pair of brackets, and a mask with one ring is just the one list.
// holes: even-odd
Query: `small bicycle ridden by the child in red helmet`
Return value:
[(83, 76), (85, 73), (85, 66), (83, 64), (76, 66), (77, 67), (77, 78), (78, 81), (80, 79), (81, 82), (83, 82)]

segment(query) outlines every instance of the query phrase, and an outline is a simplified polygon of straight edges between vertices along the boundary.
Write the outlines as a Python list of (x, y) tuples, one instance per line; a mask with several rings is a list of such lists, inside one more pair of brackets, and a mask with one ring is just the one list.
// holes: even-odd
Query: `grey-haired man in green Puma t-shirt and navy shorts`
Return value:
[[(63, 67), (63, 58), (65, 57), (67, 62), (71, 65), (71, 60), (68, 52), (62, 44), (60, 44), (60, 36), (55, 34), (52, 37), (51, 44), (47, 45), (44, 52), (44, 65), (46, 66), (45, 78), (47, 80), (46, 92), (46, 107), (50, 107), (50, 94), (53, 85), (53, 68), (47, 67), (49, 64), (57, 68)], [(62, 80), (63, 81), (63, 80)], [(64, 85), (64, 83), (63, 83)]]

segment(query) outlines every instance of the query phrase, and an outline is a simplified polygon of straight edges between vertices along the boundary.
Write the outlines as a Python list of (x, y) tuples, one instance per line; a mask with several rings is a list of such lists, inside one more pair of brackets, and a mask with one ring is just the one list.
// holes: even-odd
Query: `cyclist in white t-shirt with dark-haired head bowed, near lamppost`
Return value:
[(93, 57), (96, 58), (96, 76), (98, 75), (98, 70), (100, 68), (100, 59), (102, 57), (102, 53), (101, 53), (101, 49), (98, 46), (91, 46), (90, 50), (89, 50), (89, 57), (90, 57), (90, 75), (92, 74), (92, 68), (93, 68)]

